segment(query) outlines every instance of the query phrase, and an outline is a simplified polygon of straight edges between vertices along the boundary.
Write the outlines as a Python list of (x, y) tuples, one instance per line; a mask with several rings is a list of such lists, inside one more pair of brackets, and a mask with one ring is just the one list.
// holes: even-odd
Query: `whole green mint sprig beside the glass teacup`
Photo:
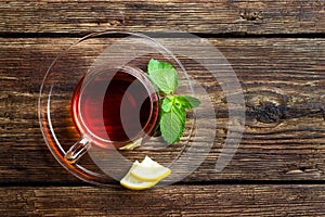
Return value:
[(174, 94), (179, 79), (171, 64), (152, 59), (147, 65), (147, 73), (161, 101), (158, 123), (161, 136), (168, 143), (176, 143), (184, 132), (186, 110), (197, 107), (200, 101), (194, 97)]

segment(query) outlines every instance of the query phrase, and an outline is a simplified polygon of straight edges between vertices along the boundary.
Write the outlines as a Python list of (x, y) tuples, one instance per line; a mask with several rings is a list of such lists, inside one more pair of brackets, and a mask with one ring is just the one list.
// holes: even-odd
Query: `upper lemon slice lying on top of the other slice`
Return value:
[(145, 156), (141, 164), (130, 170), (133, 177), (145, 182), (158, 182), (170, 175), (170, 173), (169, 168), (158, 164), (148, 156)]

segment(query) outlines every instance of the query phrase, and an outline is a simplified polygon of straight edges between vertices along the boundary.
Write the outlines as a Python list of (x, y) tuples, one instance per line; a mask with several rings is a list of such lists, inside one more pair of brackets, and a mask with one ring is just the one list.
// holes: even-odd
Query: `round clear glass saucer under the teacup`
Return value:
[[(139, 67), (145, 72), (152, 58), (168, 62), (177, 68), (180, 82), (178, 94), (196, 97), (206, 105), (187, 114), (186, 128), (181, 141), (168, 145), (160, 136), (152, 136), (147, 142), (130, 151), (105, 150), (93, 145), (77, 163), (67, 161), (67, 150), (80, 139), (72, 114), (72, 98), (80, 79), (103, 64), (115, 68)], [(40, 88), (39, 122), (53, 156), (77, 178), (94, 184), (112, 184), (123, 177), (134, 161), (142, 161), (148, 155), (171, 168), (172, 174), (159, 183), (165, 186), (180, 181), (194, 171), (213, 143), (214, 123), (208, 131), (210, 139), (205, 148), (199, 140), (207, 131), (199, 129), (197, 114), (210, 114), (214, 117), (209, 98), (205, 98), (203, 92), (206, 93), (191, 79), (179, 59), (157, 40), (134, 33), (94, 33), (62, 51), (50, 65)]]

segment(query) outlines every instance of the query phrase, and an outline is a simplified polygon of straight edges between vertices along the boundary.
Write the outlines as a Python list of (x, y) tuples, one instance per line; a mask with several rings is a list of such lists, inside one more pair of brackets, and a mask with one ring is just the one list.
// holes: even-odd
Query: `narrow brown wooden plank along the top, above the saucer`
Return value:
[(181, 30), (209, 34), (324, 33), (324, 1), (12, 1), (0, 2), (0, 33)]

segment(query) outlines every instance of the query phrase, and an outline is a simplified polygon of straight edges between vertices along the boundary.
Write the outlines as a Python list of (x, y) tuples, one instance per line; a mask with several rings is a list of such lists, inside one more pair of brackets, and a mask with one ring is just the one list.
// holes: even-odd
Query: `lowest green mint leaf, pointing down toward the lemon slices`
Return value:
[(173, 113), (164, 113), (160, 119), (160, 130), (164, 139), (172, 144), (180, 141), (184, 131), (184, 122), (182, 122), (179, 116)]

